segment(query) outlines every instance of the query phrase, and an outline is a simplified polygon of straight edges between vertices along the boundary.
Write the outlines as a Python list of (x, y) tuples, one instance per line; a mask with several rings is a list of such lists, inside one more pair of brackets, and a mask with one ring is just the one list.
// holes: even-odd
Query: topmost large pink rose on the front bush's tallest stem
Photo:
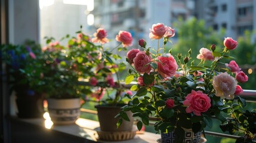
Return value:
[(161, 39), (165, 32), (168, 30), (167, 26), (164, 26), (163, 23), (153, 24), (152, 29), (149, 29), (149, 38), (150, 39)]

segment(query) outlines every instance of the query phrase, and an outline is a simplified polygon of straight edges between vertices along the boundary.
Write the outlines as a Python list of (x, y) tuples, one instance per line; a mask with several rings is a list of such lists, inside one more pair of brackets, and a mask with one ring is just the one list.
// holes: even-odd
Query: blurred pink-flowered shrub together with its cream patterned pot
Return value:
[[(78, 32), (77, 38), (66, 36), (68, 43), (63, 46), (54, 38), (47, 38), (43, 49), (45, 58), (45, 88), (48, 111), (55, 124), (75, 123), (80, 116), (81, 95), (88, 89), (79, 84), (79, 78), (90, 75), (92, 66), (87, 53), (94, 49), (87, 35)], [(87, 72), (83, 72), (87, 71)]]

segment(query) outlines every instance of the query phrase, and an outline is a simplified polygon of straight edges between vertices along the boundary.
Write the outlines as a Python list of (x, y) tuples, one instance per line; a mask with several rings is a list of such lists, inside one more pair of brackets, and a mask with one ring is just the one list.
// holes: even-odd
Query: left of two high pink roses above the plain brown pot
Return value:
[(100, 42), (101, 44), (109, 42), (109, 39), (106, 38), (107, 36), (107, 31), (99, 28), (97, 29), (97, 33), (94, 33), (95, 38), (92, 38), (91, 41), (96, 43)]

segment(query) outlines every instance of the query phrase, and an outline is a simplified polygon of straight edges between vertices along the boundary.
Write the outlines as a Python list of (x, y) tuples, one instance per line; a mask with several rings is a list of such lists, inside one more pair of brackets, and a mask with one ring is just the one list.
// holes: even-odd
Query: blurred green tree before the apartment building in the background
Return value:
[[(204, 20), (197, 20), (195, 17), (184, 21), (179, 18), (174, 23), (175, 35), (178, 38), (177, 42), (172, 46), (173, 52), (180, 52), (187, 55), (187, 49), (191, 48), (191, 57), (196, 57), (199, 54), (199, 49), (210, 48), (212, 44), (217, 45), (217, 48), (224, 47), (224, 32), (222, 29), (220, 33), (215, 32), (211, 27), (205, 27)], [(223, 46), (223, 47), (220, 47)]]

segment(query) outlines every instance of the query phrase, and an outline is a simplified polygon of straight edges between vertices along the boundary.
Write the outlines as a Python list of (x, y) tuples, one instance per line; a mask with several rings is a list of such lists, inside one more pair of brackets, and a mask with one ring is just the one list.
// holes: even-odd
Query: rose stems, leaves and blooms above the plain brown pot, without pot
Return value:
[[(131, 91), (125, 91), (124, 86), (121, 85), (122, 80), (119, 74), (126, 69), (126, 65), (121, 61), (121, 56), (118, 54), (118, 52), (126, 51), (127, 47), (132, 45), (131, 33), (120, 30), (116, 35), (116, 41), (120, 44), (115, 48), (104, 47), (109, 39), (107, 39), (107, 31), (102, 28), (97, 29), (94, 38), (92, 38), (95, 49), (89, 53), (91, 58), (88, 63), (92, 63), (94, 68), (91, 69), (93, 74), (88, 76), (87, 79), (90, 86), (95, 86), (95, 88), (92, 88), (91, 97), (99, 101), (100, 104), (124, 104), (124, 97), (131, 95)], [(100, 45), (97, 45), (97, 43), (100, 43)], [(119, 47), (121, 44), (122, 47)], [(107, 98), (103, 98), (105, 93)]]

